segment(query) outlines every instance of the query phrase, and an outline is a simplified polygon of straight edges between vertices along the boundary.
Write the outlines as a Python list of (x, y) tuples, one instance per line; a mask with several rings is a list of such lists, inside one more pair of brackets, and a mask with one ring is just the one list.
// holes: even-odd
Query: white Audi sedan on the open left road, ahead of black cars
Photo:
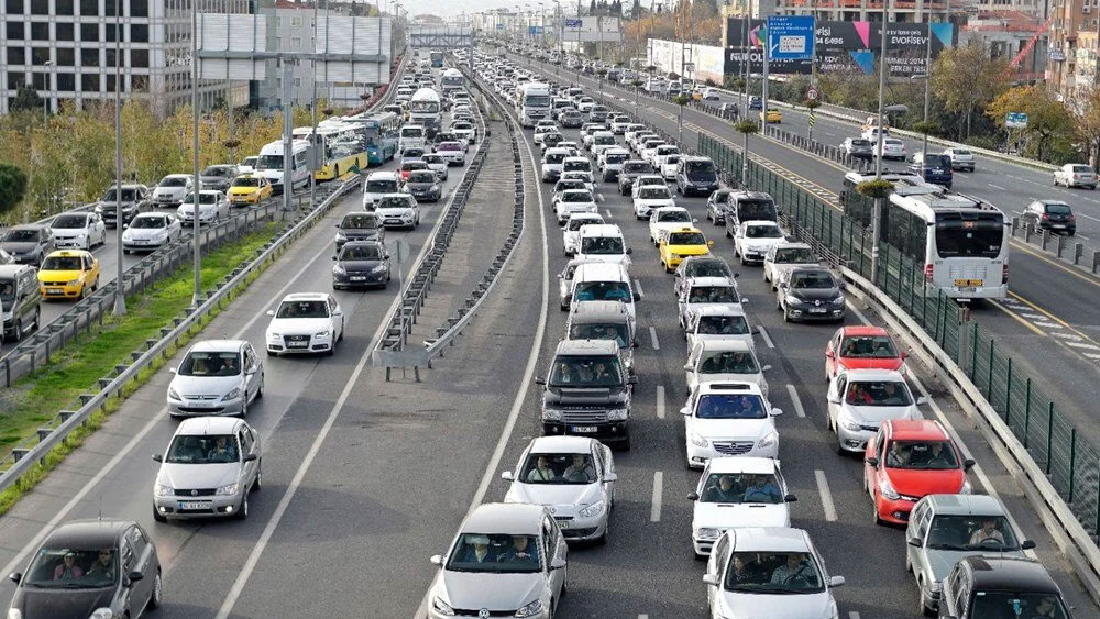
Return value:
[(267, 354), (324, 353), (331, 355), (343, 340), (343, 310), (328, 292), (287, 295), (278, 307), (267, 310), (272, 321), (265, 340)]

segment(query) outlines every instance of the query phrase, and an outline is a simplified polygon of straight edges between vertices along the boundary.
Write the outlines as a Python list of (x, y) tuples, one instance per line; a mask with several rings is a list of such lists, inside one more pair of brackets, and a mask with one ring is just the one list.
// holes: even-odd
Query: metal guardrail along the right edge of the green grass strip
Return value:
[(311, 211), (300, 213), (287, 224), (287, 229), (277, 237), (267, 241), (258, 254), (246, 266), (240, 266), (226, 276), (213, 289), (207, 291), (201, 303), (191, 306), (173, 320), (173, 327), (161, 329), (161, 338), (146, 340), (138, 351), (131, 353), (132, 363), (116, 366), (114, 372), (99, 382), (100, 389), (95, 394), (80, 396), (80, 405), (75, 410), (61, 411), (55, 421), (56, 427), (43, 427), (37, 432), (37, 444), (29, 447), (16, 447), (10, 454), (11, 466), (0, 474), (0, 491), (15, 484), (23, 475), (43, 462), (51, 450), (62, 443), (74, 430), (84, 424), (96, 411), (101, 410), (112, 397), (121, 397), (123, 391), (139, 373), (151, 367), (158, 361), (168, 357), (168, 351), (182, 339), (188, 336), (193, 327), (209, 316), (215, 309), (220, 309), (227, 298), (249, 277), (258, 272), (268, 262), (275, 259), (287, 246), (299, 239), (337, 202), (348, 189), (360, 184), (361, 176), (354, 176), (339, 188), (328, 194), (323, 201)]

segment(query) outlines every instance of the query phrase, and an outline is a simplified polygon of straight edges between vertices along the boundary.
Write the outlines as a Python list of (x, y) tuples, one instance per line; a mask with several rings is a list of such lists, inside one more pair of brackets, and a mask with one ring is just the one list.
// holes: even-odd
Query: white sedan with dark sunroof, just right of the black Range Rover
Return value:
[(684, 418), (688, 466), (702, 468), (730, 455), (779, 457), (776, 416), (760, 388), (751, 383), (704, 383), (680, 409)]

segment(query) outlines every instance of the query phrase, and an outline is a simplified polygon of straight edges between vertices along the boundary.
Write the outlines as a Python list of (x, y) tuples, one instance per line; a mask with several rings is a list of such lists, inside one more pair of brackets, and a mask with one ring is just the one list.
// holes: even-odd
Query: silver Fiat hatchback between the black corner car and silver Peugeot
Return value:
[(176, 428), (153, 485), (153, 519), (249, 517), (263, 485), (260, 433), (242, 419), (199, 417)]

